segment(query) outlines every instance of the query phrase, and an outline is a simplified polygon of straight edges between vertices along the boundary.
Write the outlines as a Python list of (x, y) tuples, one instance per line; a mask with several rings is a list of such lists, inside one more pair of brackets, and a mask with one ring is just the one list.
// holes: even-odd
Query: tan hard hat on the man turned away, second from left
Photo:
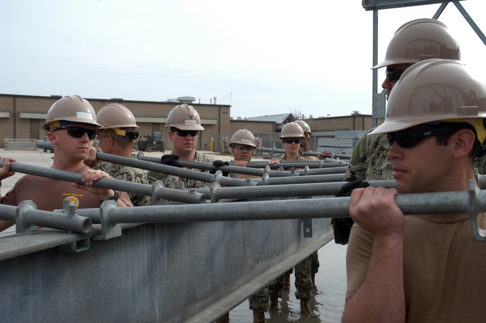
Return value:
[(135, 122), (133, 113), (124, 105), (119, 103), (110, 103), (101, 108), (96, 114), (96, 119), (98, 123), (102, 125), (102, 129), (139, 127)]

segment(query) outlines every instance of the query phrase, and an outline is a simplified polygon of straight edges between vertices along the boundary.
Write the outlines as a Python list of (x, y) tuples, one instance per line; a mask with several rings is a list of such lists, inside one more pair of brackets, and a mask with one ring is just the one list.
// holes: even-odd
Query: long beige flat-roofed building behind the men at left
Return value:
[[(40, 139), (43, 140), (47, 131), (41, 129), (44, 124), (47, 111), (61, 96), (33, 96), (0, 94), (0, 147), (4, 148), (4, 140), (9, 139)], [(90, 99), (96, 112), (109, 103), (121, 103), (135, 116), (140, 127), (140, 137), (153, 135), (154, 132), (162, 133), (166, 149), (172, 149), (172, 143), (167, 135), (165, 123), (169, 112), (179, 102), (155, 102), (155, 101), (130, 101), (123, 99)], [(209, 149), (210, 141), (215, 133), (229, 132), (229, 105), (197, 104), (192, 102), (194, 98), (181, 97), (180, 102), (192, 105), (204, 127), (199, 134), (196, 149)], [(171, 100), (172, 101), (172, 100)]]

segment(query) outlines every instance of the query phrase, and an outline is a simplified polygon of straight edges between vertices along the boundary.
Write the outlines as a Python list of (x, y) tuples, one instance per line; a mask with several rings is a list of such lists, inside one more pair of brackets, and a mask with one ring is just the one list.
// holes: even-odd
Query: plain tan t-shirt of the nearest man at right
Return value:
[[(472, 241), (469, 215), (407, 215), (405, 220), (407, 322), (486, 322), (486, 242)], [(355, 224), (347, 248), (346, 298), (363, 284), (372, 247), (371, 234)]]

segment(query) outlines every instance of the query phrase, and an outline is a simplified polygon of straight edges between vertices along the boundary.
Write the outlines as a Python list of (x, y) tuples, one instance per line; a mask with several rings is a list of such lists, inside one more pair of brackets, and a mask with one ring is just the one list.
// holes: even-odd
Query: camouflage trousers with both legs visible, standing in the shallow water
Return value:
[[(319, 260), (317, 259), (317, 252), (315, 252), (315, 257), (312, 256), (312, 253), (309, 257), (305, 258), (297, 265), (295, 265), (295, 297), (300, 300), (302, 298), (311, 298), (314, 296), (312, 294), (312, 279), (311, 279), (311, 268), (315, 268), (316, 270), (319, 268)], [(312, 259), (314, 260), (314, 266), (312, 266)], [(291, 272), (292, 269), (289, 270)], [(283, 275), (278, 277), (276, 280), (271, 282), (268, 288), (268, 297), (282, 297), (282, 289), (283, 287)]]

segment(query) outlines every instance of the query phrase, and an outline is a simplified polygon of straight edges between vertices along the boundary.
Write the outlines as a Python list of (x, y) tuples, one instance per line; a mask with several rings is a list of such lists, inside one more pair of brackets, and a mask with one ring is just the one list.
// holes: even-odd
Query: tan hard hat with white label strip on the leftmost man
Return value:
[(69, 123), (89, 124), (99, 128), (96, 113), (91, 104), (79, 95), (63, 96), (47, 112), (46, 123), (42, 129), (51, 131), (53, 126), (63, 126)]

